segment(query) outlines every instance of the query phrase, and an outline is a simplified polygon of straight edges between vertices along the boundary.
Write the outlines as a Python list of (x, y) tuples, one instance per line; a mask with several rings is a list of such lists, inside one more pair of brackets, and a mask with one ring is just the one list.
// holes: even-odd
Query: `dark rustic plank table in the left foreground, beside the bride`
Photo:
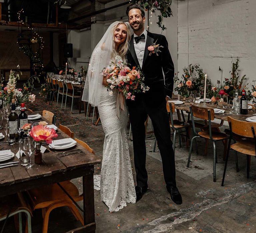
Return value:
[[(29, 114), (32, 113), (29, 112)], [(43, 117), (39, 120), (47, 121)], [(3, 129), (0, 131), (4, 133)], [(61, 130), (58, 129), (57, 132), (62, 135), (59, 135), (56, 139), (68, 138)], [(4, 140), (6, 140), (6, 137)], [(19, 143), (14, 145), (1, 145), (1, 143), (2, 141), (0, 141), (0, 149), (5, 147), (5, 149), (11, 149), (15, 154), (19, 150)], [(45, 146), (47, 150), (42, 154), (43, 162), (41, 164), (35, 164), (31, 169), (26, 169), (20, 164), (0, 169), (0, 197), (82, 176), (84, 226), (70, 232), (95, 232), (93, 173), (94, 165), (101, 161), (100, 157), (90, 153), (78, 143), (75, 147), (81, 149), (83, 153), (68, 156), (59, 154), (57, 151), (50, 149), (48, 145)], [(66, 149), (66, 151), (72, 149), (74, 147)], [(34, 164), (33, 155), (31, 159), (32, 164)], [(15, 160), (18, 161), (16, 156), (13, 158), (13, 161)]]

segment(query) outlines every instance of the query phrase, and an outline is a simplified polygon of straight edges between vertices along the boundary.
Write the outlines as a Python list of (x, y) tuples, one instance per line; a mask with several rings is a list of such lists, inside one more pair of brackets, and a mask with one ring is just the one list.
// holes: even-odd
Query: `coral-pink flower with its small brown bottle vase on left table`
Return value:
[(36, 142), (36, 153), (35, 153), (35, 163), (42, 162), (42, 153), (40, 151), (40, 147), (42, 142), (52, 143), (52, 139), (58, 137), (58, 134), (55, 132), (53, 128), (48, 128), (46, 126), (47, 122), (41, 121), (38, 125), (32, 127), (29, 132), (29, 135)]

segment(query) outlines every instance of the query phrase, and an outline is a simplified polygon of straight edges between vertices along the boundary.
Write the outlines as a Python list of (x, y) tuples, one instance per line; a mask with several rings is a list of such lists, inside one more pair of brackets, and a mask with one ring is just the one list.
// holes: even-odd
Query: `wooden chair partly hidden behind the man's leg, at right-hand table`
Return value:
[[(188, 127), (190, 126), (190, 124), (185, 122), (184, 115), (182, 115), (183, 121), (173, 119), (173, 113), (175, 112), (174, 103), (170, 102), (170, 104), (167, 105), (167, 112), (168, 112), (168, 114), (170, 114), (170, 119), (171, 119), (170, 120), (170, 127), (174, 130), (174, 133), (172, 133), (173, 134), (173, 145), (172, 145), (172, 147), (173, 147), (173, 150), (174, 150), (174, 153), (175, 153), (176, 133), (177, 132), (179, 133), (179, 142), (180, 142), (180, 135), (181, 135), (181, 132), (182, 132), (181, 129), (185, 129), (186, 139), (188, 140), (188, 142), (190, 144), (190, 137), (189, 137), (189, 132), (188, 132)], [(180, 142), (180, 147), (181, 147), (181, 142)], [(153, 152), (155, 152), (155, 150), (156, 150), (156, 139), (155, 139), (155, 142), (154, 142)]]

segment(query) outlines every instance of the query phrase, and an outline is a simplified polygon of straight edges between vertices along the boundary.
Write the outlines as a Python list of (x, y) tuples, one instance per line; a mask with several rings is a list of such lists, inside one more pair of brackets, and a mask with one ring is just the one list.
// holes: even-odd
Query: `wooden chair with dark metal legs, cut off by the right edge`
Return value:
[[(256, 158), (256, 136), (255, 136), (255, 130), (254, 130), (254, 128), (256, 128), (256, 122), (254, 123), (254, 122), (240, 121), (230, 116), (228, 116), (228, 122), (229, 122), (229, 128), (230, 128), (230, 137), (228, 142), (228, 151), (227, 151), (227, 157), (226, 157), (225, 167), (223, 171), (221, 186), (224, 185), (224, 179), (225, 179), (230, 149), (233, 149), (235, 152), (238, 151), (240, 153), (246, 154), (247, 178), (249, 178), (250, 158), (251, 156), (254, 156)], [(239, 135), (241, 138), (244, 138), (244, 139), (236, 141), (234, 140), (234, 137), (233, 137), (234, 134)], [(232, 145), (231, 145), (231, 140), (234, 140), (234, 144)]]

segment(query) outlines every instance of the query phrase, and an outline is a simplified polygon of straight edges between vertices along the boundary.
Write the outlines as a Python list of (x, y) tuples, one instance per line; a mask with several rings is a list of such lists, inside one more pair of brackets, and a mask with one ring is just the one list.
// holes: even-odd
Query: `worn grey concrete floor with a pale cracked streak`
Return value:
[[(84, 121), (84, 114), (73, 116), (83, 121), (82, 125), (69, 125), (75, 132), (75, 137), (86, 141), (96, 154), (102, 156), (104, 133), (101, 125), (94, 126), (91, 122)], [(221, 187), (223, 144), (217, 143), (216, 182), (213, 182), (212, 144), (209, 143), (207, 156), (203, 155), (205, 141), (199, 139), (197, 144), (199, 154), (193, 151), (190, 167), (187, 168), (188, 148), (184, 146), (184, 142), (181, 148), (176, 143), (176, 180), (183, 198), (183, 204), (176, 205), (165, 188), (158, 148), (156, 152), (152, 152), (154, 136), (147, 138), (148, 191), (138, 203), (128, 203), (119, 212), (109, 213), (107, 206), (100, 201), (100, 191), (95, 190), (96, 232), (256, 232), (255, 159), (251, 160), (250, 178), (247, 179), (246, 156), (238, 154), (240, 171), (236, 172), (231, 151), (225, 186)], [(130, 140), (129, 145), (134, 167)], [(100, 165), (95, 166), (96, 176), (100, 174), (100, 168)], [(73, 181), (82, 191), (81, 178)], [(13, 222), (9, 220), (4, 232), (14, 232), (12, 225)], [(68, 208), (63, 207), (52, 211), (48, 232), (67, 232), (79, 226), (80, 222), (75, 220)], [(41, 232), (41, 227), (42, 215), (37, 210), (32, 219), (32, 232)]]

